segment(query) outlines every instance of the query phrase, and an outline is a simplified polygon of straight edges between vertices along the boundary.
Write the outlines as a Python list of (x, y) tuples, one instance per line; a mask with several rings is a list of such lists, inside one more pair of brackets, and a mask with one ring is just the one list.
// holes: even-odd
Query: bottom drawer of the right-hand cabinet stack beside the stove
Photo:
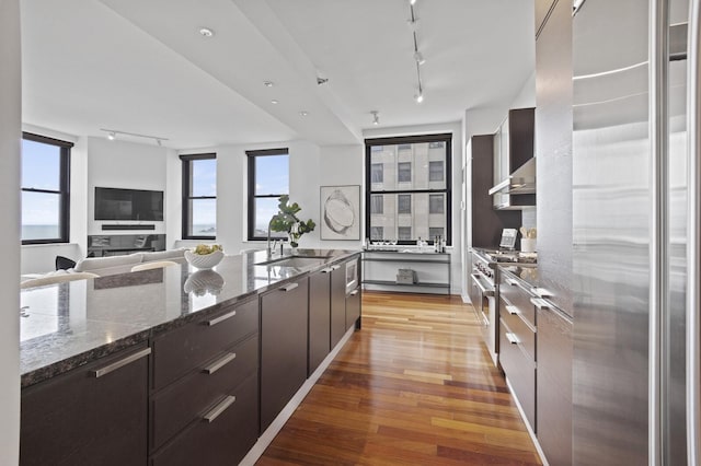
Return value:
[(499, 363), (514, 389), (514, 396), (524, 409), (526, 419), (533, 432), (536, 424), (536, 363), (521, 349), (520, 345), (513, 345), (506, 337), (512, 329), (507, 323), (499, 319)]

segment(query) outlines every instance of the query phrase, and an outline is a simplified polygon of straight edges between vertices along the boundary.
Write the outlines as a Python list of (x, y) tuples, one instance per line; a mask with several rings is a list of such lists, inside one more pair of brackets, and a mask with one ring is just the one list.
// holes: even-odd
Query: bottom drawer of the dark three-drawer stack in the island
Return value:
[[(241, 385), (230, 389), (226, 396), (221, 396), (203, 410), (202, 419), (153, 455), (151, 464), (153, 466), (239, 464), (257, 440), (257, 381), (256, 374), (251, 375)], [(210, 419), (207, 420), (207, 417)]]

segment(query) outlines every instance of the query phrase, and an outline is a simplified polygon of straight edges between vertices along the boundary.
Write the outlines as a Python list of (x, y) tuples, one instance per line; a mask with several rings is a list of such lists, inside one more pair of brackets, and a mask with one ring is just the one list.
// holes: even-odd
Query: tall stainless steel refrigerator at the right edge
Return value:
[(575, 2), (576, 465), (701, 464), (699, 2)]

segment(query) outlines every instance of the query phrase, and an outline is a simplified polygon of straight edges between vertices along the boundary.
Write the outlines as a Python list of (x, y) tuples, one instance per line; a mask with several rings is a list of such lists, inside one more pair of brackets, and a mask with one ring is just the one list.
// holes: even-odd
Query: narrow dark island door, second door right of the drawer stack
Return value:
[(309, 375), (331, 351), (331, 268), (309, 277)]

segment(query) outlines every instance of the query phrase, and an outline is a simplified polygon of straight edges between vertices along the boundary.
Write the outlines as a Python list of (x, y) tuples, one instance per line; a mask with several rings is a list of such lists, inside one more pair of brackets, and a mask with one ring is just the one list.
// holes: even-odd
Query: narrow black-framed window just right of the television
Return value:
[(183, 240), (217, 237), (217, 154), (180, 156), (183, 164)]

